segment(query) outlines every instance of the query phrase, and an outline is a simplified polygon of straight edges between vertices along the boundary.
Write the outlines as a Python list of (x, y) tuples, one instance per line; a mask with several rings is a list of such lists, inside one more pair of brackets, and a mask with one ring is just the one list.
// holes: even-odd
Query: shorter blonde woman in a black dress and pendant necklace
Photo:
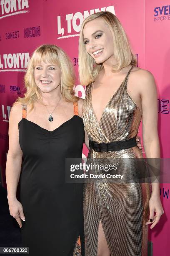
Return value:
[(83, 184), (65, 183), (65, 158), (82, 158), (85, 136), (74, 84), (65, 52), (42, 45), (28, 64), (25, 97), (10, 113), (7, 198), (31, 256), (72, 256), (74, 249), (80, 255), (75, 248), (79, 236), (84, 255)]

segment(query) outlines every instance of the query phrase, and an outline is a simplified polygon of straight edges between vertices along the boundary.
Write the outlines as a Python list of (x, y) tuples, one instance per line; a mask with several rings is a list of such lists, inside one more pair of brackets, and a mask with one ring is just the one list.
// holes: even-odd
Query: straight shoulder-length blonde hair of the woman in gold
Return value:
[(83, 85), (88, 85), (91, 82), (94, 82), (100, 70), (103, 68), (103, 64), (96, 64), (95, 60), (87, 54), (83, 38), (83, 29), (85, 24), (91, 20), (97, 18), (102, 18), (105, 20), (107, 26), (110, 28), (110, 31), (113, 36), (113, 47), (114, 47), (114, 57), (117, 61), (117, 64), (112, 66), (114, 72), (120, 71), (123, 67), (127, 67), (129, 64), (136, 66), (136, 58), (133, 55), (128, 38), (120, 21), (116, 16), (108, 11), (94, 13), (88, 16), (82, 23), (79, 39), (79, 79), (80, 83)]

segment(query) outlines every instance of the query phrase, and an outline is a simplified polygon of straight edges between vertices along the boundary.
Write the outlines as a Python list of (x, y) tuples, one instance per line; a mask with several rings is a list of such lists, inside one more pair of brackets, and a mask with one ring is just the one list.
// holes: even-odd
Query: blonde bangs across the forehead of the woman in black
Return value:
[(56, 50), (50, 47), (41, 47), (34, 53), (33, 66), (41, 62), (50, 63), (52, 65), (57, 65), (60, 67), (60, 61)]

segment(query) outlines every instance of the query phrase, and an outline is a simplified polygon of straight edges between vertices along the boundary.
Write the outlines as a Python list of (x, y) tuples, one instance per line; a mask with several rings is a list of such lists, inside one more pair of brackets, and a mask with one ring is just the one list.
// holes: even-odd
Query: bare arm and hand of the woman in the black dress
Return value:
[(21, 163), (23, 152), (19, 144), (18, 122), (22, 118), (22, 105), (15, 104), (10, 112), (9, 121), (9, 150), (7, 153), (6, 164), (6, 182), (7, 182), (7, 200), (12, 215), (20, 227), (21, 220), (24, 220), (23, 207), (16, 198), (18, 182), (20, 178)]

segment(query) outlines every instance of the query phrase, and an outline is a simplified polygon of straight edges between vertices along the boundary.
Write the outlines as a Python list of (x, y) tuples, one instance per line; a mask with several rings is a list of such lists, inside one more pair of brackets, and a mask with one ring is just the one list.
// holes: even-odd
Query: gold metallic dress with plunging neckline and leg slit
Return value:
[[(127, 91), (130, 72), (107, 103), (100, 122), (92, 108), (92, 84), (87, 91), (82, 118), (90, 141), (108, 143), (133, 138), (138, 133), (142, 113)], [(89, 162), (100, 159), (143, 158), (138, 146), (120, 151), (90, 149)], [(135, 174), (123, 166), (121, 172)], [(89, 182), (84, 187), (85, 256), (97, 256), (98, 227), (101, 220), (111, 256), (147, 256), (150, 183)]]

